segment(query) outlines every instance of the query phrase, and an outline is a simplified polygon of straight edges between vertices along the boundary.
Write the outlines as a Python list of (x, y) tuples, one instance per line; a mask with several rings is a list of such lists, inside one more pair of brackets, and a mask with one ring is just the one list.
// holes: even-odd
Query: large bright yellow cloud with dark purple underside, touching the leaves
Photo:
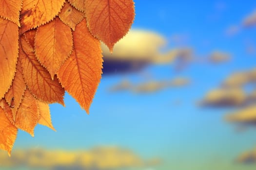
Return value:
[(191, 48), (164, 50), (165, 37), (146, 30), (131, 30), (114, 47), (111, 54), (102, 44), (104, 56), (104, 73), (130, 72), (139, 70), (149, 64), (168, 64), (177, 58), (188, 58)]

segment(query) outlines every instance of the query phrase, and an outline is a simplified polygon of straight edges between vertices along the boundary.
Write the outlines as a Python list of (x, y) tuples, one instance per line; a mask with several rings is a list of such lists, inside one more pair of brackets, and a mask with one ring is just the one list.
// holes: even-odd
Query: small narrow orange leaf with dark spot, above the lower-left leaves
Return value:
[(4, 96), (6, 102), (9, 104), (9, 106), (12, 109), (14, 120), (16, 119), (15, 115), (20, 106), (25, 89), (26, 89), (26, 85), (23, 79), (21, 63), (19, 59), (17, 64), (16, 74), (12, 82), (12, 86)]

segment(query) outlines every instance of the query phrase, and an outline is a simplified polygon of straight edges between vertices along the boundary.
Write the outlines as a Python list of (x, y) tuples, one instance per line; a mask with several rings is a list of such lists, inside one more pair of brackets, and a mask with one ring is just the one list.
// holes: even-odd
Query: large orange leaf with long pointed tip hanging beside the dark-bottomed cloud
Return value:
[(57, 75), (65, 90), (89, 113), (102, 73), (100, 43), (90, 34), (85, 19), (77, 25), (73, 36), (74, 50)]

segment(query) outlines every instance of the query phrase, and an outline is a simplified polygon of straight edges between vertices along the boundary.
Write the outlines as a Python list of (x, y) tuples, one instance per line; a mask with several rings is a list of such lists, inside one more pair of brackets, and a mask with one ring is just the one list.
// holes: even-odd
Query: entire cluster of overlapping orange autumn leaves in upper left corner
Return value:
[(55, 130), (49, 104), (67, 91), (89, 113), (102, 74), (100, 41), (113, 51), (134, 20), (133, 0), (0, 0), (0, 149), (18, 129)]

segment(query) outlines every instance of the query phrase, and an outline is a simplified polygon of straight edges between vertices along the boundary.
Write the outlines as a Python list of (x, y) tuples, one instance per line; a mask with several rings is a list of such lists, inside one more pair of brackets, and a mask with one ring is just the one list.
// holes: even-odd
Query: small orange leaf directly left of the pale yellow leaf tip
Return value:
[(39, 119), (40, 114), (36, 99), (28, 90), (25, 90), (24, 98), (20, 103), (16, 119), (14, 120), (15, 126), (34, 136), (34, 129)]

